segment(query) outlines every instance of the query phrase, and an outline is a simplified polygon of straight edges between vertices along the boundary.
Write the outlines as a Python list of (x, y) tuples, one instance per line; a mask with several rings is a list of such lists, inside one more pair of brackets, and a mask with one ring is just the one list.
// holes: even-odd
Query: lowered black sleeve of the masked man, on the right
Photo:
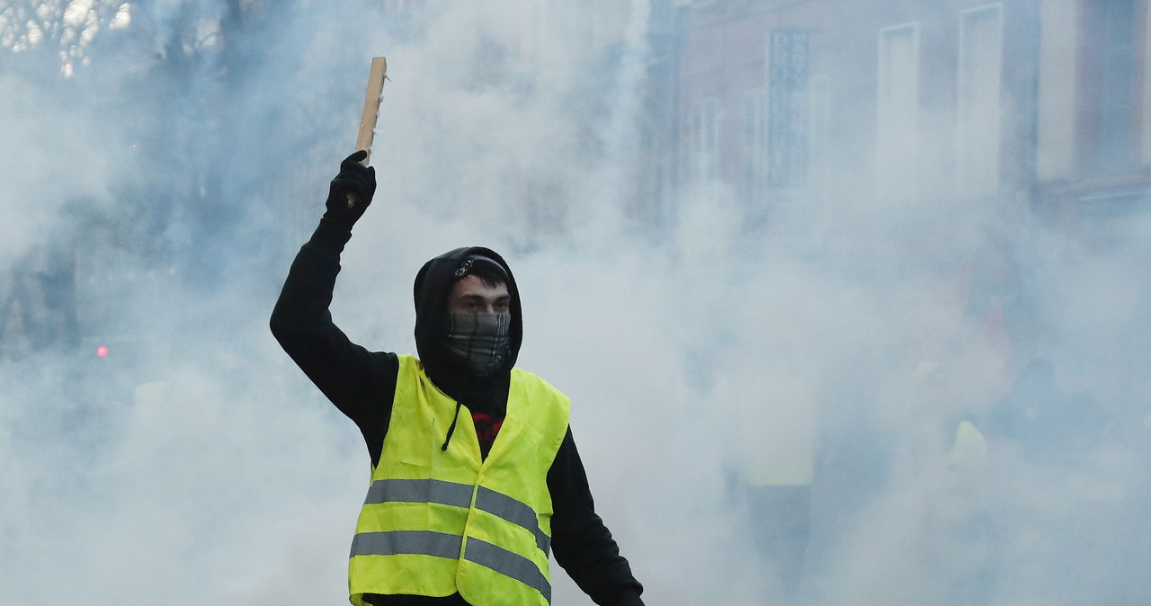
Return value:
[(643, 588), (619, 554), (616, 540), (595, 513), (587, 473), (571, 428), (548, 470), (551, 493), (551, 549), (567, 576), (601, 606), (642, 606)]

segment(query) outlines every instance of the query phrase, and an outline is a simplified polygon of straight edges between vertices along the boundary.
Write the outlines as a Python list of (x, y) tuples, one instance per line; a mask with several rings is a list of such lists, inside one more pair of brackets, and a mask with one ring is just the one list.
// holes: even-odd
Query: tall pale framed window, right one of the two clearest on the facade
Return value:
[(992, 195), (999, 191), (1001, 86), (1001, 5), (962, 11), (955, 166), (960, 195)]

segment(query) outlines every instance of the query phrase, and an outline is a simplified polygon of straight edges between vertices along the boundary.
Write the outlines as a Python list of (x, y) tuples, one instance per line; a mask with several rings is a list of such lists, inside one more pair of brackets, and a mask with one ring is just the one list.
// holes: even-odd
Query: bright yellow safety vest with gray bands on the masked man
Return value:
[(467, 407), (457, 419), (456, 401), (419, 360), (399, 355), (391, 422), (352, 540), (351, 603), (458, 591), (475, 606), (550, 604), (547, 475), (570, 406), (542, 378), (513, 369), (506, 416), (482, 459)]

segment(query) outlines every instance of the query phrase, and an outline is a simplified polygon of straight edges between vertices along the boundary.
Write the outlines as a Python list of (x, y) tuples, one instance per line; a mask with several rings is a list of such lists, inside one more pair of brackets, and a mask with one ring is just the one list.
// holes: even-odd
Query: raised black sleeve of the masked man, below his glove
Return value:
[(359, 427), (375, 465), (391, 416), (399, 362), (394, 353), (356, 345), (331, 321), (328, 306), (340, 254), (350, 238), (348, 228), (320, 220), (292, 261), (270, 328), (300, 370)]

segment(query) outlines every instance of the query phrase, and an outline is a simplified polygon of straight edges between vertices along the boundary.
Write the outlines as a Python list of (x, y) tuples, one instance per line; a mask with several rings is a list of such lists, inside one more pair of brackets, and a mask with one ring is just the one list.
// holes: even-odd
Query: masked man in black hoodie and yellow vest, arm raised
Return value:
[(516, 368), (520, 299), (503, 258), (466, 247), (424, 264), (418, 358), (369, 352), (333, 323), (340, 254), (375, 192), (365, 158), (341, 164), (272, 314), (273, 335), (356, 422), (372, 460), (351, 603), (547, 605), (554, 552), (596, 604), (642, 605), (642, 586), (595, 513), (567, 397)]

